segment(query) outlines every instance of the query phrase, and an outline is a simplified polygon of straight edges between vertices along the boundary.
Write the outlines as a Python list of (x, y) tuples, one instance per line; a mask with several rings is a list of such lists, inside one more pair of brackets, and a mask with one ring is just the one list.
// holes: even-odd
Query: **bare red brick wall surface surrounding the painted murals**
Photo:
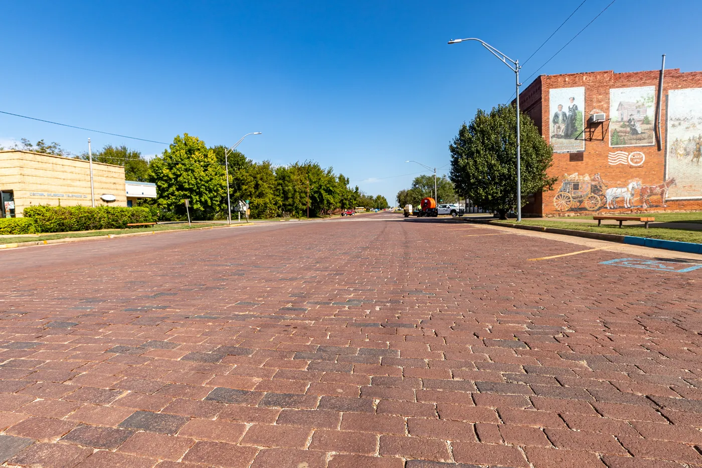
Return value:
[[(560, 74), (560, 75), (543, 75), (536, 79), (527, 87), (521, 94), (519, 103), (524, 112), (527, 113), (537, 126), (541, 127), (541, 134), (549, 141), (550, 139), (550, 103), (549, 96), (551, 89), (572, 88), (578, 86), (585, 87), (585, 129), (594, 128), (592, 138), (585, 138), (585, 152), (583, 155), (569, 155), (567, 153), (556, 153), (553, 155), (553, 167), (550, 169), (552, 176), (558, 176), (559, 181), (555, 185), (555, 190), (543, 193), (541, 197), (535, 197), (534, 204), (524, 209), (525, 213), (541, 214), (543, 216), (574, 216), (577, 214), (592, 213), (585, 209), (585, 204), (581, 204), (578, 200), (574, 200), (570, 209), (564, 212), (559, 212), (555, 209), (554, 197), (557, 195), (562, 186), (562, 178), (564, 174), (578, 173), (580, 176), (588, 174), (590, 178), (595, 174), (600, 174), (604, 181), (604, 188), (626, 187), (632, 181), (638, 181), (644, 190), (646, 186), (656, 186), (664, 182), (665, 178), (665, 152), (666, 152), (666, 103), (668, 102), (668, 92), (671, 89), (689, 89), (702, 88), (702, 72), (681, 73), (680, 70), (665, 70), (665, 79), (663, 82), (663, 107), (661, 117), (661, 136), (663, 148), (658, 151), (656, 145), (642, 146), (610, 146), (609, 132), (614, 130), (610, 128), (609, 122), (605, 122), (604, 126), (589, 127), (587, 119), (590, 111), (594, 109), (602, 110), (607, 114), (607, 119), (610, 115), (610, 89), (631, 88), (639, 86), (654, 86), (655, 99), (658, 100), (658, 77), (659, 71), (648, 72), (631, 72), (631, 73), (614, 73), (607, 72), (590, 72), (578, 74)], [(540, 96), (539, 96), (540, 92)], [(655, 108), (655, 105), (654, 105)], [(655, 119), (655, 112), (654, 112)], [(604, 134), (603, 134), (604, 127)], [(651, 130), (652, 131), (652, 130)], [(702, 131), (702, 130), (701, 130)], [(588, 136), (588, 131), (585, 132)], [(645, 155), (645, 160), (642, 165), (635, 167), (630, 164), (612, 165), (608, 162), (609, 153), (623, 151), (626, 153), (642, 152)], [(579, 160), (581, 159), (581, 160)], [(635, 162), (635, 161), (634, 161)], [(702, 177), (702, 162), (700, 163), (699, 176)], [(695, 175), (696, 177), (696, 175)], [(595, 189), (596, 191), (596, 189)], [(634, 190), (634, 197), (631, 200), (632, 207), (625, 209), (623, 207), (623, 199), (616, 200), (618, 208), (608, 209), (604, 206), (604, 194), (601, 197), (603, 206), (597, 209), (601, 214), (616, 213), (616, 212), (663, 212), (663, 211), (683, 211), (702, 209), (702, 200), (667, 200), (661, 202), (659, 195), (652, 195), (649, 199), (649, 204), (644, 204), (642, 200), (641, 190)], [(702, 193), (698, 195), (702, 196)], [(577, 197), (576, 197), (577, 198)], [(539, 200), (541, 199), (541, 200)], [(541, 202), (541, 207), (539, 203)], [(667, 205), (667, 206), (664, 206)]]

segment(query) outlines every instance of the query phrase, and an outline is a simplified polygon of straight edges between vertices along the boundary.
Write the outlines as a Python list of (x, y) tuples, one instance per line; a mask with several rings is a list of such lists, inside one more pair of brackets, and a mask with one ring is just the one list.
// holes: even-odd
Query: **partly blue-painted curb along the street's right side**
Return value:
[(679, 242), (677, 240), (639, 238), (633, 235), (590, 233), (586, 230), (545, 228), (543, 226), (526, 226), (512, 223), (491, 223), (490, 220), (482, 219), (466, 219), (465, 221), (468, 221), (469, 223), (487, 224), (489, 226), (502, 226), (504, 228), (536, 230), (541, 233), (572, 235), (576, 238), (607, 240), (609, 242), (618, 242), (620, 244), (639, 245), (641, 247), (651, 247), (653, 249), (674, 250), (675, 252), (685, 252), (687, 254), (702, 254), (702, 244), (696, 244), (694, 242)]

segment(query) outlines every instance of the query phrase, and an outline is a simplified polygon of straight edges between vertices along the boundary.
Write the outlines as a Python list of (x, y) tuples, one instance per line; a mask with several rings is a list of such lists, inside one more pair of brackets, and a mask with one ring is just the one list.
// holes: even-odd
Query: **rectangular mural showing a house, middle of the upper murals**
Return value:
[(654, 145), (656, 87), (609, 90), (610, 146)]

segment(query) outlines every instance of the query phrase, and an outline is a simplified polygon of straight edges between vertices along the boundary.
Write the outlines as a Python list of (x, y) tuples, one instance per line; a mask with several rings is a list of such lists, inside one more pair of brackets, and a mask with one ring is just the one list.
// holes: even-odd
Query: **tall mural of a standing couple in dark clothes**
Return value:
[(585, 88), (551, 89), (548, 99), (554, 152), (585, 151)]

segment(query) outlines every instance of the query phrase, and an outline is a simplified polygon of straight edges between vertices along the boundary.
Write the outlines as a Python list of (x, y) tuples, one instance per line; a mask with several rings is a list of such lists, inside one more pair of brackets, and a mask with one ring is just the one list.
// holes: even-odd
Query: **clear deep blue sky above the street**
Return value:
[[(392, 204), (514, 75), (479, 37), (527, 59), (582, 0), (5, 1), (0, 110), (170, 142), (187, 132), (253, 160), (333, 166)], [(524, 79), (611, 0), (587, 0)], [(540, 73), (702, 70), (702, 1), (617, 0)], [(533, 78), (532, 78), (533, 79)], [(531, 81), (531, 79), (529, 80)], [(529, 82), (524, 82), (529, 84)], [(0, 115), (0, 144), (164, 145)], [(445, 167), (444, 167), (445, 166)]]

